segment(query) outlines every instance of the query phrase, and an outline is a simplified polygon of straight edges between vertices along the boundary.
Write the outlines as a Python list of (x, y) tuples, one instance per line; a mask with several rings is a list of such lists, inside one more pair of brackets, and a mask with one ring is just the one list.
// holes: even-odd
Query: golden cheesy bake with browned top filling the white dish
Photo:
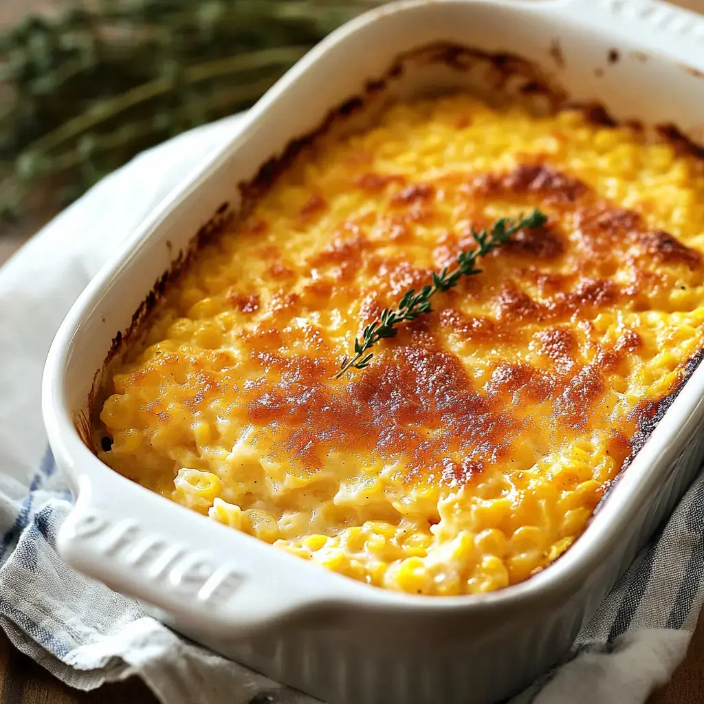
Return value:
[[(501, 589), (582, 533), (703, 346), (704, 172), (584, 111), (454, 95), (321, 136), (108, 381), (100, 457), (367, 584)], [(334, 379), (385, 306), (548, 216)]]

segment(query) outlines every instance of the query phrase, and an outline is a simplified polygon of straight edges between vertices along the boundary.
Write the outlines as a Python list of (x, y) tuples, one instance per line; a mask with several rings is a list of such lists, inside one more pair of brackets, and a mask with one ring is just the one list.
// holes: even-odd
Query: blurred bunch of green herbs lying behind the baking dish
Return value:
[(137, 152), (251, 106), (379, 2), (86, 0), (25, 18), (0, 34), (0, 214), (38, 193), (71, 201)]

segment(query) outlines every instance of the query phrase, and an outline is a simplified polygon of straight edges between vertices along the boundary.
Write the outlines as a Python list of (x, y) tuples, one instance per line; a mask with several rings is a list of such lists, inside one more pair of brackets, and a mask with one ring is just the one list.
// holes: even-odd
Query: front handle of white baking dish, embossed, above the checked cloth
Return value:
[[(325, 597), (332, 590), (325, 585), (337, 575), (294, 555), (270, 561), (270, 551), (277, 548), (165, 503), (140, 486), (110, 491), (111, 481), (101, 481), (96, 495), (88, 477), (79, 483), (75, 508), (58, 534), (63, 559), (111, 589), (156, 607), (160, 620), (177, 629), (207, 630), (213, 638), (234, 640), (332, 605)], [(137, 519), (120, 516), (120, 494), (129, 498), (130, 515)], [(334, 591), (339, 595), (339, 584)]]

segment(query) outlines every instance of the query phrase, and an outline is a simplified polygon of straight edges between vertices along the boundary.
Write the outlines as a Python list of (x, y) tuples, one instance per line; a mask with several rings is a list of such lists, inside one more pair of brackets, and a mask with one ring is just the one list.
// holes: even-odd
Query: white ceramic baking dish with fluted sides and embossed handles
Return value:
[[(617, 118), (691, 132), (704, 115), (704, 20), (666, 4), (436, 0), (372, 11), (289, 71), (232, 142), (204, 155), (129, 238), (68, 314), (44, 374), (51, 448), (77, 495), (58, 540), (65, 560), (194, 639), (334, 704), (478, 704), (520, 690), (570, 646), (702, 454), (699, 367), (560, 560), (503, 591), (438, 598), (375, 589), (225, 528), (119, 476), (84, 443), (92, 385), (115, 332), (130, 327), (194, 233), (221, 206), (218, 217), (237, 210), (236, 184), (399, 54), (437, 41), (522, 56)], [(377, 93), (486, 84), (477, 73), (417, 65)]]

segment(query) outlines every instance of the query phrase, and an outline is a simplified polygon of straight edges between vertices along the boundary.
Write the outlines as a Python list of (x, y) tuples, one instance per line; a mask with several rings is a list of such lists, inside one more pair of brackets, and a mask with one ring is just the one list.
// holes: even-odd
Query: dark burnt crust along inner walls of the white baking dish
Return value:
[[(365, 87), (360, 94), (352, 96), (342, 103), (339, 103), (338, 106), (332, 108), (322, 120), (320, 125), (314, 130), (303, 134), (301, 137), (291, 139), (287, 146), (283, 149), (282, 153), (280, 153), (279, 156), (272, 156), (265, 161), (265, 163), (263, 163), (263, 165), (261, 165), (258, 169), (256, 175), (249, 180), (249, 182), (240, 182), (237, 185), (241, 195), (241, 206), (239, 208), (239, 213), (234, 213), (232, 211), (229, 202), (222, 203), (222, 205), (220, 205), (215, 211), (213, 217), (210, 218), (205, 225), (199, 228), (194, 237), (191, 239), (189, 245), (184, 250), (180, 251), (177, 258), (175, 258), (170, 265), (170, 268), (163, 272), (161, 277), (158, 277), (151, 291), (149, 291), (149, 294), (147, 294), (132, 315), (132, 321), (127, 329), (125, 329), (124, 332), (122, 330), (118, 330), (118, 332), (115, 333), (106, 358), (103, 360), (101, 368), (94, 376), (94, 382), (89, 391), (87, 401), (88, 413), (86, 414), (81, 411), (74, 418), (74, 426), (80, 436), (80, 439), (83, 444), (87, 446), (89, 451), (91, 451), (91, 453), (96, 457), (96, 459), (98, 459), (97, 448), (101, 444), (101, 439), (106, 436), (104, 432), (100, 432), (101, 424), (98, 417), (98, 401), (100, 401), (101, 398), (104, 399), (106, 396), (106, 390), (104, 388), (107, 380), (106, 375), (115, 364), (115, 361), (119, 360), (125, 353), (127, 347), (132, 345), (136, 341), (136, 338), (139, 337), (139, 334), (144, 332), (146, 323), (149, 322), (151, 315), (155, 312), (159, 303), (163, 300), (167, 289), (172, 287), (177, 280), (180, 279), (182, 274), (187, 270), (192, 260), (201, 251), (203, 246), (208, 244), (210, 241), (213, 241), (213, 239), (218, 237), (218, 235), (227, 230), (227, 228), (231, 227), (237, 221), (246, 217), (253, 202), (272, 187), (277, 178), (284, 171), (286, 171), (292, 163), (294, 163), (296, 158), (298, 158), (301, 153), (312, 149), (320, 137), (328, 134), (333, 127), (339, 125), (342, 121), (346, 120), (346, 118), (350, 118), (351, 115), (360, 113), (360, 111), (368, 108), (372, 101), (379, 98), (379, 96), (383, 94), (384, 90), (388, 87), (391, 81), (403, 75), (406, 71), (406, 64), (413, 61), (420, 61), (421, 63), (425, 63), (425, 65), (443, 64), (455, 71), (470, 70), (474, 67), (474, 65), (476, 65), (477, 61), (484, 61), (489, 63), (497, 72), (497, 80), (495, 85), (496, 89), (503, 88), (505, 83), (510, 78), (519, 77), (524, 80), (524, 82), (519, 87), (518, 92), (524, 96), (543, 96), (551, 103), (551, 110), (553, 111), (558, 111), (560, 109), (580, 111), (586, 121), (593, 125), (603, 125), (605, 127), (624, 125), (631, 127), (634, 130), (644, 130), (646, 128), (641, 120), (615, 120), (615, 118), (612, 118), (605, 106), (598, 101), (570, 101), (569, 94), (557, 82), (555, 82), (551, 75), (544, 73), (543, 70), (536, 66), (536, 64), (532, 61), (528, 61), (527, 59), (505, 51), (489, 52), (474, 49), (470, 46), (463, 46), (462, 44), (457, 44), (455, 42), (432, 42), (399, 54), (382, 77), (367, 80)], [(686, 153), (704, 161), (704, 146), (687, 137), (676, 125), (668, 122), (652, 125), (649, 128), (658, 134), (661, 142), (670, 144), (670, 146), (674, 147), (677, 153)], [(169, 250), (172, 249), (170, 241), (166, 241), (166, 246)], [(674, 403), (677, 396), (679, 396), (679, 393), (684, 388), (686, 382), (689, 381), (703, 360), (704, 346), (696, 351), (696, 353), (694, 353), (689, 360), (687, 360), (684, 370), (681, 370), (679, 373), (677, 382), (673, 384), (672, 390), (665, 394), (665, 396), (636, 404), (634, 409), (631, 411), (631, 413), (637, 415), (636, 432), (633, 436), (631, 436), (631, 438), (629, 438), (631, 452), (624, 460), (624, 463), (622, 464), (622, 467), (620, 467), (617, 475), (613, 479), (608, 480), (608, 482), (603, 483), (603, 486), (605, 486), (605, 491), (596, 507), (593, 508), (584, 531), (577, 536), (577, 539), (569, 548), (567, 548), (567, 551), (559, 555), (558, 558), (555, 558), (555, 560), (550, 562), (550, 564), (546, 565), (541, 572), (546, 572), (551, 567), (556, 565), (565, 555), (572, 551), (575, 544), (582, 540), (586, 532), (589, 531), (594, 518), (603, 509), (614, 487), (623, 477), (636, 455), (638, 455), (643, 449), (643, 446), (646, 445), (646, 442), (650, 439), (655, 427), (658, 426), (660, 420), (662, 420), (662, 417), (672, 406), (672, 403)], [(102, 463), (102, 461), (101, 464), (106, 468), (106, 470), (115, 472), (115, 470), (109, 467), (109, 465)], [(126, 480), (130, 481), (130, 479)], [(168, 500), (165, 499), (165, 501)], [(315, 569), (320, 569), (320, 567), (316, 565)], [(498, 594), (508, 597), (509, 594), (513, 593), (517, 587), (533, 582), (535, 577), (539, 574), (540, 572), (532, 575), (522, 582), (510, 584), (503, 589), (497, 590), (496, 592), (491, 592), (489, 594), (446, 596), (444, 598), (439, 598), (437, 596), (394, 593), (393, 591), (377, 587), (374, 588), (375, 596), (378, 601), (376, 605), (378, 605), (379, 608), (389, 608), (394, 605), (403, 607), (408, 605), (410, 602), (419, 603), (422, 601), (425, 605), (428, 605), (429, 603), (435, 603), (437, 605), (444, 603), (450, 606), (451, 604), (449, 602), (462, 601), (467, 604), (467, 601), (482, 601), (484, 602), (483, 605), (485, 607), (493, 605), (498, 608), (501, 605), (495, 601)], [(343, 578), (349, 582), (354, 582), (362, 589), (370, 586), (363, 582), (352, 580), (348, 577)], [(555, 586), (546, 585), (545, 588), (548, 589), (548, 591), (554, 591)], [(577, 587), (574, 589), (577, 589)], [(522, 597), (522, 599), (520, 599), (521, 602), (532, 598), (532, 595), (529, 593), (522, 593), (521, 595), (516, 596)], [(407, 600), (406, 603), (403, 603), (401, 599), (404, 601)], [(366, 608), (373, 608), (374, 606), (375, 603), (373, 602), (365, 603)]]

